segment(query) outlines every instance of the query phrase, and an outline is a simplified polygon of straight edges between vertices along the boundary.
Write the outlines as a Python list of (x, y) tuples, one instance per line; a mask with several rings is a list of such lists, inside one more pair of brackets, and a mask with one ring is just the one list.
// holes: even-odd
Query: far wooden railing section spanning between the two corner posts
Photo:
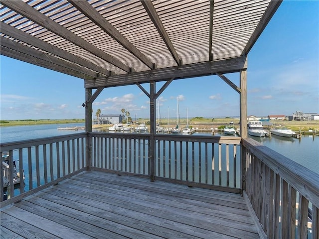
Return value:
[(240, 192), (240, 137), (157, 134), (151, 157), (150, 134), (90, 135), (92, 167)]

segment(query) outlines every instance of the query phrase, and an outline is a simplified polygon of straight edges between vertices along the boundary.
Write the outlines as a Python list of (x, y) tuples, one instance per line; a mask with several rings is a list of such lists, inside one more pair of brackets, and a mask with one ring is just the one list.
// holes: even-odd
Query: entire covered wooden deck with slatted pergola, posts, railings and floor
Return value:
[[(1, 143), (27, 182), (1, 197), (1, 237), (318, 239), (317, 175), (247, 136), (247, 56), (281, 1), (0, 4), (0, 53), (82, 80), (86, 119), (85, 132)], [(156, 134), (165, 88), (211, 75), (239, 94), (240, 137)], [(92, 132), (97, 96), (126, 85), (149, 97), (150, 131)]]

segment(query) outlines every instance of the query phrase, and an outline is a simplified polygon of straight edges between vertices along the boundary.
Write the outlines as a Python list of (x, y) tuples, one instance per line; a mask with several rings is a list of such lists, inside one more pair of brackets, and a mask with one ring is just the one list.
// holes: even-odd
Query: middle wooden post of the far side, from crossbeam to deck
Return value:
[(156, 155), (156, 82), (150, 81), (150, 120), (151, 120), (151, 137), (150, 137), (150, 178), (151, 182), (155, 181), (155, 155)]

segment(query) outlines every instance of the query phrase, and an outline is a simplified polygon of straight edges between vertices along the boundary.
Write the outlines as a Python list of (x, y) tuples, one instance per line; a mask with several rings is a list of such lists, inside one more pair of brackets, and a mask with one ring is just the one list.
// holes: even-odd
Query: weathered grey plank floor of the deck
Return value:
[(85, 171), (1, 209), (1, 239), (259, 239), (240, 195)]

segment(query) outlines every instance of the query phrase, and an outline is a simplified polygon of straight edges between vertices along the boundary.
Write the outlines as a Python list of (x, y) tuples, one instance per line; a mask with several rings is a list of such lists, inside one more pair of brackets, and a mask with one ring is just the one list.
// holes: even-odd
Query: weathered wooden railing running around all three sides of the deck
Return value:
[[(231, 136), (76, 133), (1, 144), (25, 185), (1, 207), (86, 169), (243, 193), (268, 238), (318, 239), (319, 176), (253, 139)], [(152, 148), (153, 147), (153, 148)], [(152, 153), (154, 156), (152, 156)], [(3, 195), (1, 172), (0, 189)], [(13, 178), (9, 177), (10, 185)], [(14, 197), (14, 198), (13, 198)], [(3, 198), (1, 197), (1, 201)]]

